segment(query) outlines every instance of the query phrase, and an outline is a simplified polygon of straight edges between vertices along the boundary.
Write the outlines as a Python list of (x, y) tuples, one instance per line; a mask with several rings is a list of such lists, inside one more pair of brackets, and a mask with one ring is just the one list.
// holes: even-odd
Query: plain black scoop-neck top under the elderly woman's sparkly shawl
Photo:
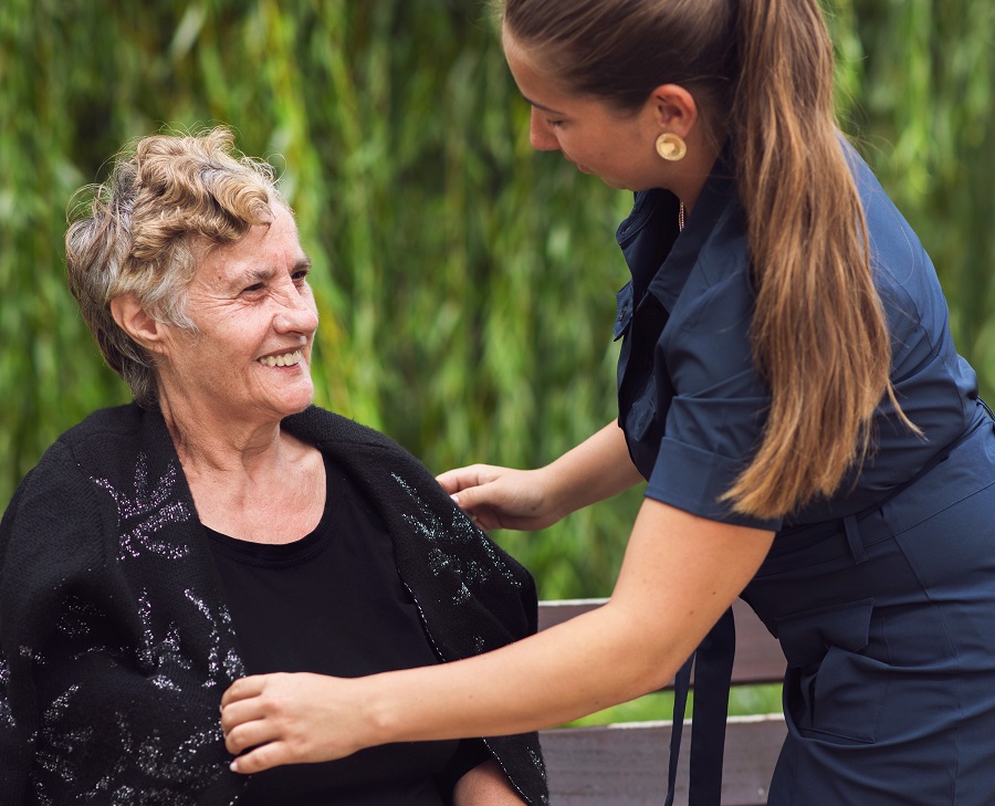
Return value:
[[(325, 477), (324, 515), (302, 540), (260, 544), (207, 530), (247, 672), (352, 678), (437, 663), (386, 524), (327, 458)], [(239, 804), (440, 806), (489, 757), (474, 740), (370, 747), (253, 775)]]

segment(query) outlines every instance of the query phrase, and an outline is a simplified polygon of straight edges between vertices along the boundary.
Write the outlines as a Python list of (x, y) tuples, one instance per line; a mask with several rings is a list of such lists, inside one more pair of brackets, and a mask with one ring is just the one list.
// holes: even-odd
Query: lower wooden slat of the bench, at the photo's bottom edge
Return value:
[[(678, 772), (674, 804), (688, 803), (688, 742)], [(649, 806), (663, 803), (670, 722), (635, 722), (543, 731), (552, 806)], [(725, 740), (723, 806), (762, 806), (785, 737), (778, 715), (732, 716)]]

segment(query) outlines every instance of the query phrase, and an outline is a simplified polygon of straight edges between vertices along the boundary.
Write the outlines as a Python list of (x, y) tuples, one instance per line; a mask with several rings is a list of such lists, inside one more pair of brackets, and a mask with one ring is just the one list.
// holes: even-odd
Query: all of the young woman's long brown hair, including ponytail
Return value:
[(756, 287), (753, 358), (771, 407), (724, 499), (766, 519), (836, 492), (870, 449), (882, 397), (901, 409), (818, 0), (504, 0), (502, 10), (569, 91), (625, 112), (680, 84), (710, 136), (731, 142)]

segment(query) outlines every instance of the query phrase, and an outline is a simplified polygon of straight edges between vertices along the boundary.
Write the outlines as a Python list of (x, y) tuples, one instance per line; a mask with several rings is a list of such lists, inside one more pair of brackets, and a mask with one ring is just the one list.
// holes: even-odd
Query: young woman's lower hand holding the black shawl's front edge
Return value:
[(235, 680), (221, 698), (224, 744), (238, 755), (231, 768), (258, 773), (332, 761), (368, 746), (363, 736), (371, 721), (353, 692), (356, 682), (303, 672)]

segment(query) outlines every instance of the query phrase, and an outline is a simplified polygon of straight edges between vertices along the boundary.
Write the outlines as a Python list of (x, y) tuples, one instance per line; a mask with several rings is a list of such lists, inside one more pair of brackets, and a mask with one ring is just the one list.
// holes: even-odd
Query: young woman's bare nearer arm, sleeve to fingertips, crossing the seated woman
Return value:
[(338, 758), (388, 742), (522, 733), (653, 691), (746, 586), (774, 533), (647, 500), (611, 599), (511, 646), (344, 680), (273, 674), (222, 699), (233, 768)]

